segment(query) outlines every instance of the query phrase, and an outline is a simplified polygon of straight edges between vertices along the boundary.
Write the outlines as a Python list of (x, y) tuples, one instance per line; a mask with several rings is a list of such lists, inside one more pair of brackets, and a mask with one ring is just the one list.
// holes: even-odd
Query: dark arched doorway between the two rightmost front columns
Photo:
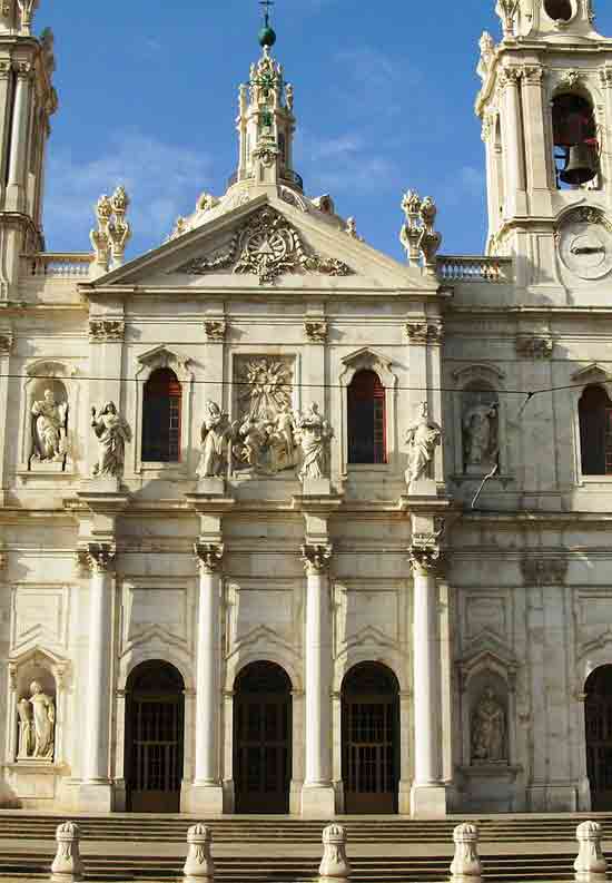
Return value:
[(396, 813), (399, 685), (379, 663), (361, 663), (342, 685), (342, 772), (346, 813)]

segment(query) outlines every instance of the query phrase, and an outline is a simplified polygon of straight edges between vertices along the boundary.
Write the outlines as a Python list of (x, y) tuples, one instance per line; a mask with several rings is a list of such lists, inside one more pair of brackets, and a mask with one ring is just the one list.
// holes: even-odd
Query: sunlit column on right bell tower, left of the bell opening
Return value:
[(505, 206), (506, 218), (526, 213), (525, 157), (523, 118), (519, 85), (522, 70), (519, 67), (504, 68), (500, 76), (503, 88), (502, 137), (505, 158)]

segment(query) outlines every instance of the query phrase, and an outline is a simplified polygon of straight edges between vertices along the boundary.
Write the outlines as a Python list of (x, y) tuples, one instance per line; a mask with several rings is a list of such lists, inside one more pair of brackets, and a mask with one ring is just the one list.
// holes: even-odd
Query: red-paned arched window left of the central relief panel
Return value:
[(142, 461), (180, 460), (180, 396), (177, 375), (168, 367), (154, 371), (142, 400)]

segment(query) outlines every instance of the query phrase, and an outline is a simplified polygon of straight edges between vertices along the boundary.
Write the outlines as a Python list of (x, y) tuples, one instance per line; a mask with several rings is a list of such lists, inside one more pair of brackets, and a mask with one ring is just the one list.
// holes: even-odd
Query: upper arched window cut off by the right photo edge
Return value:
[(612, 402), (602, 386), (586, 386), (579, 404), (583, 475), (612, 475)]

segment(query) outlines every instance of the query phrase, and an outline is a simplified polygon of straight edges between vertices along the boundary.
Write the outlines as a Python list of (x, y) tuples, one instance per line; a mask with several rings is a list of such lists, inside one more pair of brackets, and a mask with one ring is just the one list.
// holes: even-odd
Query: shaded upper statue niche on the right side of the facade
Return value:
[(500, 400), (497, 393), (477, 383), (462, 395), (463, 471), (484, 475), (500, 461)]

